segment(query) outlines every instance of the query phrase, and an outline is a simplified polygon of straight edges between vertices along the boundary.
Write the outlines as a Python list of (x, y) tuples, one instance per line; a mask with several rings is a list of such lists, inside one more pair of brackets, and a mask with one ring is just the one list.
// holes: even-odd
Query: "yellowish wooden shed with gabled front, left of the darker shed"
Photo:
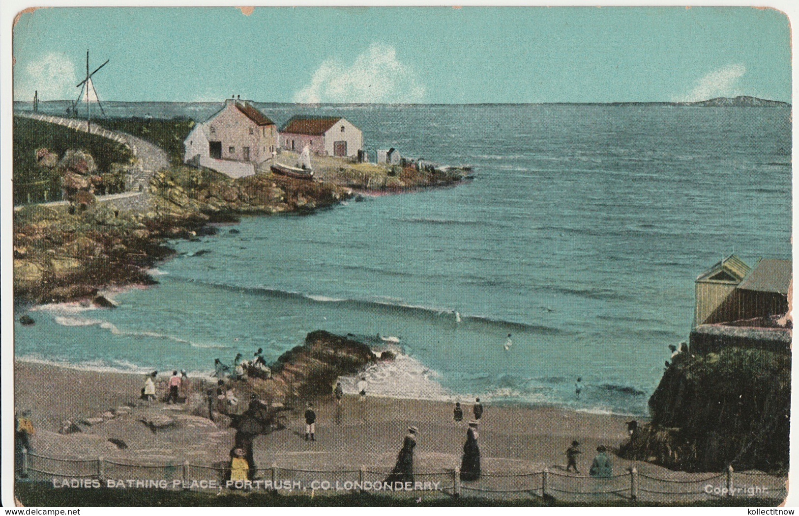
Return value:
[(734, 321), (728, 318), (725, 301), (744, 280), (751, 268), (734, 254), (716, 263), (696, 279), (694, 326)]

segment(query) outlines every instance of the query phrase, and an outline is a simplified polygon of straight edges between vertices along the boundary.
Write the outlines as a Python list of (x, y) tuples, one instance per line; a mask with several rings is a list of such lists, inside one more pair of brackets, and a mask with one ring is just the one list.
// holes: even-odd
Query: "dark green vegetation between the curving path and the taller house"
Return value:
[(176, 117), (164, 118), (107, 118), (97, 120), (106, 129), (127, 132), (141, 140), (147, 140), (165, 150), (173, 166), (183, 163), (183, 140), (194, 127), (194, 120)]

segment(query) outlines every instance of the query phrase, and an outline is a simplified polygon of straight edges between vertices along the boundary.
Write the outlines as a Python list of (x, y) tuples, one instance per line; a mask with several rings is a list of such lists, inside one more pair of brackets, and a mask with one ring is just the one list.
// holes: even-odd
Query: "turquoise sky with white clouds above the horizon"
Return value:
[(86, 49), (101, 100), (791, 101), (788, 18), (751, 7), (39, 9), (14, 99), (76, 99)]

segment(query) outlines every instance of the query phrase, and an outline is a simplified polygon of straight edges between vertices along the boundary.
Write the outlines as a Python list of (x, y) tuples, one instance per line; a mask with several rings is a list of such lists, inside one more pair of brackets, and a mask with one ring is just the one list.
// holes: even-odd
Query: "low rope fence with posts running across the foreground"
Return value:
[(187, 490), (275, 490), (287, 494), (344, 494), (364, 492), (388, 496), (525, 499), (553, 497), (566, 502), (638, 500), (641, 502), (695, 502), (735, 497), (784, 498), (785, 479), (757, 471), (734, 471), (701, 479), (664, 479), (630, 468), (617, 475), (594, 478), (559, 471), (484, 473), (475, 480), (460, 478), (459, 469), (414, 472), (413, 479), (388, 482), (390, 471), (360, 469), (311, 470), (291, 467), (255, 468), (247, 480), (231, 481), (227, 466), (185, 463), (134, 464), (104, 459), (60, 459), (18, 454), (18, 473), (34, 482), (77, 482), (79, 479), (114, 487), (158, 487)]

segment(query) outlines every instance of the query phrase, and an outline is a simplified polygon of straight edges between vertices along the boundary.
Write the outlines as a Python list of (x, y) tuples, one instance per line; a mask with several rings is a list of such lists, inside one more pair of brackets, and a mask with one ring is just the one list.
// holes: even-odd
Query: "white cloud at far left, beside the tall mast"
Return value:
[(78, 98), (75, 65), (62, 54), (48, 53), (15, 73), (14, 100), (34, 100), (37, 90), (41, 100)]

